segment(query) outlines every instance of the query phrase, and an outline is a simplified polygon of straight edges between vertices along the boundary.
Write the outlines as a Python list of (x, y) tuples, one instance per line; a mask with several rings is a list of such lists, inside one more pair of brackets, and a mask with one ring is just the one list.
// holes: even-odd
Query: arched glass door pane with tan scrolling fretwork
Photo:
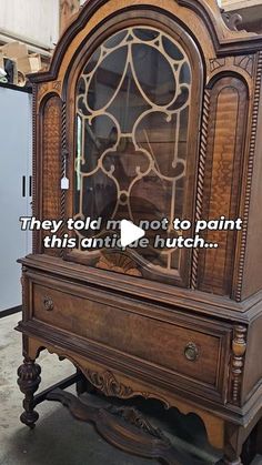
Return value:
[[(190, 63), (171, 37), (141, 27), (102, 43), (77, 89), (75, 218), (182, 216), (190, 97)], [(180, 251), (151, 246), (139, 256), (172, 276)]]

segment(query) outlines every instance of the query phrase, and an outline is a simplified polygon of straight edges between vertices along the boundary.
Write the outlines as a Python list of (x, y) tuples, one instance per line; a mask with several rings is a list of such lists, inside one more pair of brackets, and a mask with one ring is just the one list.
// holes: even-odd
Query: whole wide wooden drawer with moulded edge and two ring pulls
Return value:
[[(191, 380), (222, 396), (230, 330), (187, 317), (160, 321), (150, 305), (62, 281), (31, 283), (32, 317)], [(144, 313), (144, 314), (143, 314)], [(208, 326), (208, 330), (206, 330)], [(74, 337), (75, 338), (75, 337)]]

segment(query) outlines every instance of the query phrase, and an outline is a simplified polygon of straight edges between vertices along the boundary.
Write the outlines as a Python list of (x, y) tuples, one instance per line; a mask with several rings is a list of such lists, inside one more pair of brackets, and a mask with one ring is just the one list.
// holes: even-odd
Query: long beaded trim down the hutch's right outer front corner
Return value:
[(246, 245), (246, 239), (248, 239), (248, 223), (249, 223), (251, 188), (252, 188), (252, 176), (253, 176), (253, 166), (254, 166), (254, 152), (255, 152), (258, 118), (259, 118), (260, 95), (261, 95), (261, 79), (262, 79), (262, 51), (258, 54), (256, 79), (255, 79), (255, 87), (254, 87), (245, 202), (244, 202), (244, 209), (243, 209), (243, 215), (242, 215), (243, 226), (242, 226), (240, 259), (239, 259), (239, 276), (238, 276), (238, 283), (236, 283), (236, 291), (235, 291), (236, 302), (241, 302), (241, 297), (242, 297), (242, 283), (243, 283), (244, 259), (245, 259), (245, 249), (246, 249), (245, 245)]

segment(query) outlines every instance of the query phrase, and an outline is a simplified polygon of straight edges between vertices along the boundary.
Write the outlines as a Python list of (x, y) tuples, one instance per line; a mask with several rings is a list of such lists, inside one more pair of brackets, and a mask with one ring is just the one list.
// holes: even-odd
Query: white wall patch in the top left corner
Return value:
[(0, 0), (0, 33), (53, 48), (59, 37), (59, 0)]

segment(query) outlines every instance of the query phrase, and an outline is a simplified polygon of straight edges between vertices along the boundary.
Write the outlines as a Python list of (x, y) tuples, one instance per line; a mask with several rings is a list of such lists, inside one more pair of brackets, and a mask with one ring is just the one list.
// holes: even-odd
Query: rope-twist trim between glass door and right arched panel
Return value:
[[(203, 95), (203, 114), (202, 114), (202, 132), (200, 142), (200, 156), (198, 169), (198, 186), (196, 186), (196, 203), (195, 203), (195, 221), (201, 220), (203, 206), (203, 191), (204, 191), (204, 170), (208, 148), (208, 130), (209, 130), (209, 114), (210, 114), (210, 90), (204, 90)], [(198, 266), (199, 266), (199, 249), (193, 249), (192, 253), (192, 276), (191, 287), (193, 290), (198, 286)]]

